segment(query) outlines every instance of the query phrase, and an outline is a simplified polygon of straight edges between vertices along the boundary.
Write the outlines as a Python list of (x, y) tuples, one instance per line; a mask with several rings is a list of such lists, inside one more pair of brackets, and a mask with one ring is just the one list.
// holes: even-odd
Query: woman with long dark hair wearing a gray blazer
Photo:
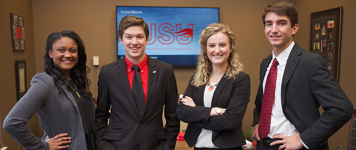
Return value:
[[(95, 102), (83, 41), (70, 30), (52, 33), (44, 60), (46, 72), (32, 78), (31, 88), (6, 116), (4, 130), (26, 150), (94, 150)], [(36, 111), (42, 139), (26, 126)]]

